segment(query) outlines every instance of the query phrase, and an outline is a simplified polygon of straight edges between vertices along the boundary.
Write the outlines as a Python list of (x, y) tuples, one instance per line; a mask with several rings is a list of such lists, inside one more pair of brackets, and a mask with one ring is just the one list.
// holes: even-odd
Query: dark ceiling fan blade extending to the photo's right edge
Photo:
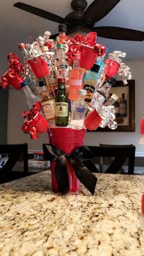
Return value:
[(144, 32), (134, 29), (125, 29), (124, 27), (93, 27), (99, 37), (111, 39), (143, 41)]

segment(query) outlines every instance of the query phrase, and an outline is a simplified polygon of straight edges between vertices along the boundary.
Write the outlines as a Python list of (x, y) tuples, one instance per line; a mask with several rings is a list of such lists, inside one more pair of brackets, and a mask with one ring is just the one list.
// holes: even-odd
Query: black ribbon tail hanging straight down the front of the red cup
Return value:
[(59, 156), (55, 166), (55, 176), (59, 192), (66, 194), (70, 190), (68, 172), (67, 172), (67, 158), (65, 155)]

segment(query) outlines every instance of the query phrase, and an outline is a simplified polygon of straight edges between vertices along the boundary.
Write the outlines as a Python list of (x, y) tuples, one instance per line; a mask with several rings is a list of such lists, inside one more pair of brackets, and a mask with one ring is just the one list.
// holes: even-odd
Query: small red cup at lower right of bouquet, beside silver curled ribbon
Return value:
[(101, 117), (96, 109), (90, 112), (90, 114), (88, 114), (84, 119), (85, 127), (90, 131), (96, 130), (99, 123), (101, 123)]

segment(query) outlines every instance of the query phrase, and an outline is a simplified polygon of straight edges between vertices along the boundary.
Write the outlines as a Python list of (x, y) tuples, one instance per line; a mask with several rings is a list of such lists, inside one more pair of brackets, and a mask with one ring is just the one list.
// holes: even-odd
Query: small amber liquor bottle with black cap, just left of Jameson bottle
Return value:
[(46, 87), (45, 81), (40, 81), (39, 86), (41, 94), (41, 106), (43, 108), (46, 120), (49, 122), (50, 126), (54, 125), (54, 98), (49, 94), (48, 86)]

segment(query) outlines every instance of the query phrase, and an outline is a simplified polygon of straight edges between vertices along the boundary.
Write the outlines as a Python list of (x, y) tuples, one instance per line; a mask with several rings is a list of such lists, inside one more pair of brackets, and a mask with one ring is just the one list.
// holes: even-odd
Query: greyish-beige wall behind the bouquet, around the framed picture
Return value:
[[(132, 79), (135, 79), (135, 132), (88, 132), (85, 137), (85, 145), (105, 144), (134, 144), (137, 155), (144, 155), (144, 145), (140, 140), (140, 119), (144, 115), (144, 59), (124, 61), (131, 67)], [(27, 108), (25, 95), (16, 90), (9, 89), (9, 118), (7, 143), (27, 142), (29, 150), (41, 150), (42, 144), (48, 142), (47, 134), (40, 134), (39, 139), (30, 139), (29, 134), (24, 134), (20, 127), (23, 123), (22, 112)]]

